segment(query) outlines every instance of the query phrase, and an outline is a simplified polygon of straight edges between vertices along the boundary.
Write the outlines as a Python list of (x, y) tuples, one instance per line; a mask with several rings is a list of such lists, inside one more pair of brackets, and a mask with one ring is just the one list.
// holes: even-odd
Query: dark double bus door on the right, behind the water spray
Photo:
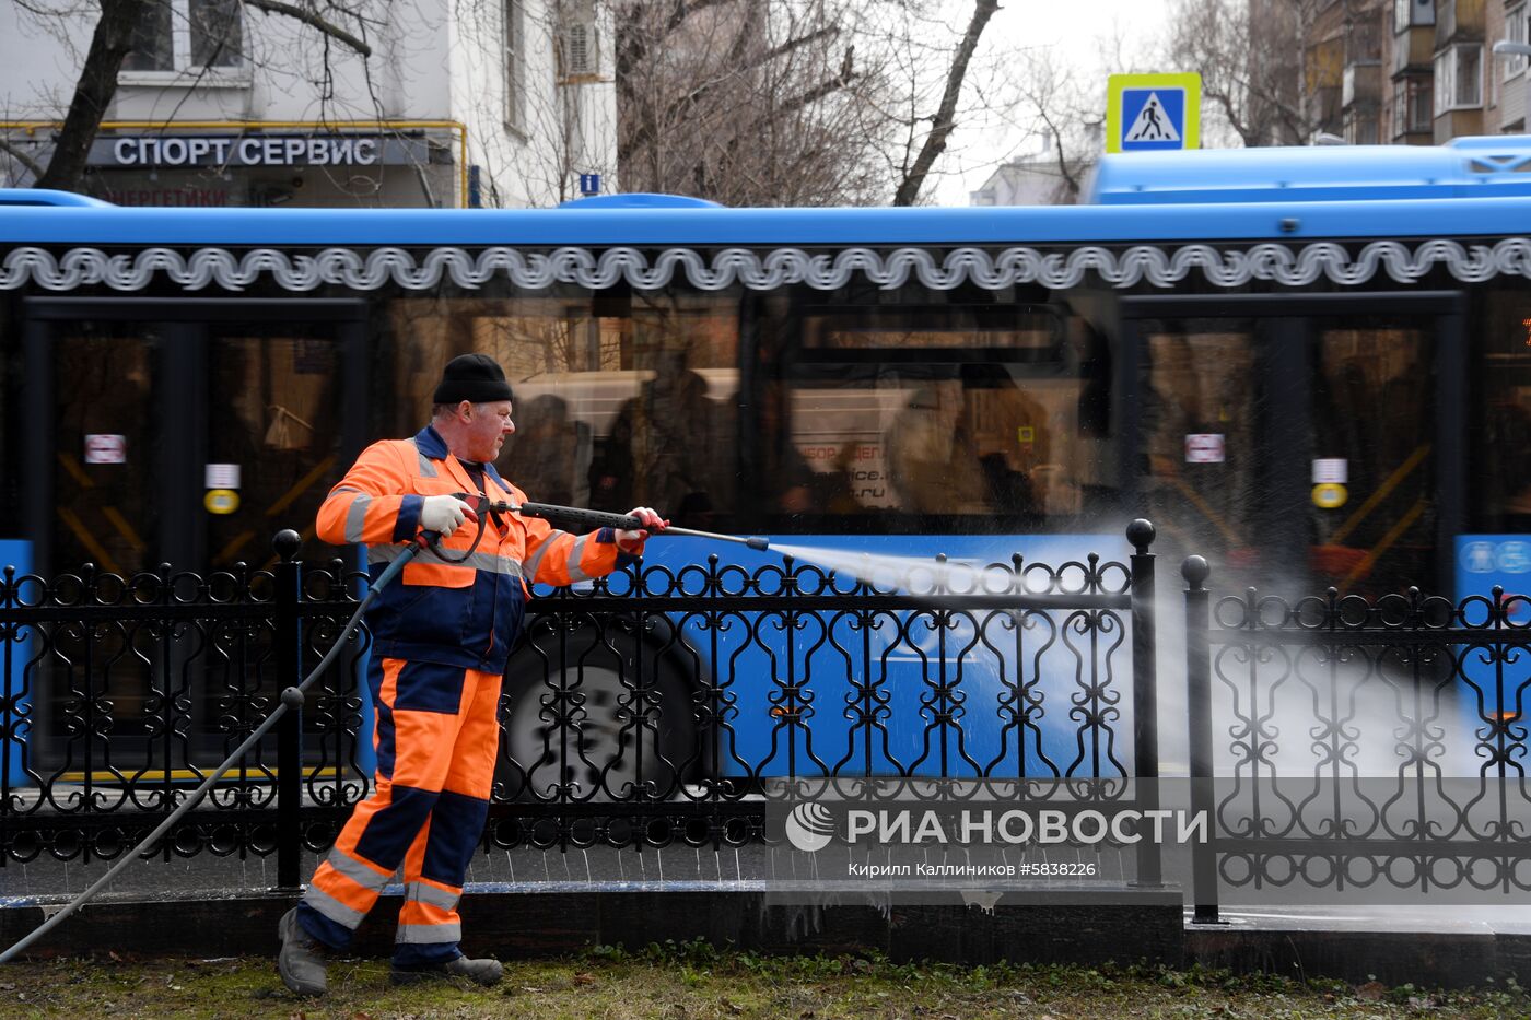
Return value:
[(1124, 302), (1122, 476), (1217, 587), (1445, 591), (1464, 507), (1453, 293)]

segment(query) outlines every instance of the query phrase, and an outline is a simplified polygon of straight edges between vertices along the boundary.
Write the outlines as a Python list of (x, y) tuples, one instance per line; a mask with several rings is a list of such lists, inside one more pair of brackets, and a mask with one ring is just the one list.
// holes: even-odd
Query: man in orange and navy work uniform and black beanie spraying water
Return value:
[[(378, 893), (404, 870), (392, 977), (501, 979), (498, 960), (458, 948), (468, 859), (488, 815), (499, 746), (496, 706), (521, 631), (527, 584), (609, 574), (643, 550), (648, 530), (570, 535), (511, 513), (479, 521), (453, 493), (521, 504), (495, 470), (511, 432), (511, 391), (490, 357), (453, 358), (432, 423), (412, 440), (374, 443), (318, 508), (326, 542), (367, 547), (374, 579), (423, 531), (441, 535), (367, 610), (367, 683), (377, 709), (377, 780), (303, 894), (282, 917), (277, 966), (294, 992), (326, 991), (325, 951), (343, 950)], [(654, 510), (632, 515), (663, 528)]]

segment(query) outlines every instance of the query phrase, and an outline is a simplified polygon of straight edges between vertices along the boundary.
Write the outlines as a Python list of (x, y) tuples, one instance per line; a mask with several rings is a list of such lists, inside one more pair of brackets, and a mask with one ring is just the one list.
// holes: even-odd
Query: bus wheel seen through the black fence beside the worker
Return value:
[[(571, 634), (559, 671), (556, 636), (505, 668), (496, 798), (672, 799), (704, 760), (692, 685), (660, 649)], [(640, 660), (641, 657), (641, 660)], [(640, 669), (641, 662), (641, 669)]]

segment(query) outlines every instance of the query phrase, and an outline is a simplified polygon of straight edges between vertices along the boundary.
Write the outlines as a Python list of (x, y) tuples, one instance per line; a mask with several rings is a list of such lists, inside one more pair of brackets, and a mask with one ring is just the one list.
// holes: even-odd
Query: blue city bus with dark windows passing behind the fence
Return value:
[(1465, 594), (1531, 571), (1485, 553), (1531, 548), (1528, 168), (1505, 136), (1105, 156), (1078, 207), (0, 191), (0, 539), (43, 576), (262, 565), (286, 525), (326, 561), (325, 492), (481, 351), (544, 502), (975, 562), (1122, 559), (1144, 516), (1223, 590)]

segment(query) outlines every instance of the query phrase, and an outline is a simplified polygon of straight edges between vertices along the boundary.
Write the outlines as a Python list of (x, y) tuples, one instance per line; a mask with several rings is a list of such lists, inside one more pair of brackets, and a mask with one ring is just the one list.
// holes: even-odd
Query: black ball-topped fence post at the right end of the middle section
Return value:
[[(1159, 663), (1154, 642), (1153, 545), (1154, 527), (1138, 518), (1127, 525), (1133, 544), (1133, 772), (1138, 806), (1142, 812), (1159, 807)], [(1147, 816), (1147, 815), (1145, 815)], [(1159, 844), (1138, 841), (1138, 885), (1160, 885), (1164, 868)]]

